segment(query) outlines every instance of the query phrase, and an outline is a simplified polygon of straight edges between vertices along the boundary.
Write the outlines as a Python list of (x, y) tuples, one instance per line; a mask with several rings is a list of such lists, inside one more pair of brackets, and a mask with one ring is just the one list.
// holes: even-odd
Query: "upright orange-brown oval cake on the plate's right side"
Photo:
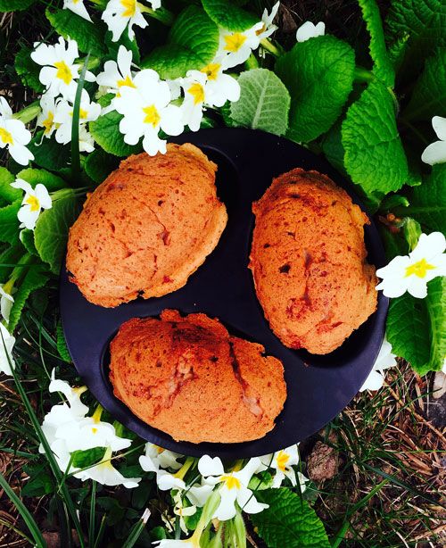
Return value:
[(270, 327), (290, 348), (332, 352), (376, 310), (367, 215), (326, 175), (301, 169), (274, 179), (252, 211), (250, 269)]

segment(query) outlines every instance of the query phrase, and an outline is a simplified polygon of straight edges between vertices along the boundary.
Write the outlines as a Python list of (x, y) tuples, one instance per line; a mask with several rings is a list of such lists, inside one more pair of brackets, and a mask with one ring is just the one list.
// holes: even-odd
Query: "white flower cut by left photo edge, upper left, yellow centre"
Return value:
[(31, 140), (29, 130), (21, 120), (12, 118), (12, 110), (4, 97), (0, 97), (0, 148), (8, 148), (15, 162), (28, 165), (34, 160), (26, 145)]

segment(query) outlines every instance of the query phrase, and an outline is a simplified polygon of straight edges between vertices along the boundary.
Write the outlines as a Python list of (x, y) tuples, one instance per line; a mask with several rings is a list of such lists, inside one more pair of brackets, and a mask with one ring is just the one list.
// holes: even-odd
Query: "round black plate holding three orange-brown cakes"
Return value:
[[(263, 195), (273, 177), (295, 167), (326, 173), (354, 202), (360, 202), (351, 185), (326, 160), (285, 138), (251, 129), (203, 129), (172, 141), (193, 143), (218, 163), (218, 192), (229, 217), (219, 245), (185, 287), (161, 298), (137, 300), (114, 309), (88, 303), (63, 269), (61, 311), (70, 354), (79, 375), (103, 407), (153, 444), (194, 456), (207, 453), (239, 459), (272, 453), (317, 432), (358, 392), (383, 341), (388, 300), (380, 293), (376, 313), (333, 353), (315, 356), (286, 348), (268, 328), (247, 268), (252, 202)], [(384, 249), (373, 222), (365, 234), (368, 261), (377, 268), (384, 266)], [(166, 308), (217, 317), (231, 333), (261, 343), (268, 354), (283, 362), (288, 397), (276, 427), (267, 436), (244, 444), (178, 443), (137, 419), (113, 396), (108, 380), (112, 336), (124, 321), (156, 316)]]

